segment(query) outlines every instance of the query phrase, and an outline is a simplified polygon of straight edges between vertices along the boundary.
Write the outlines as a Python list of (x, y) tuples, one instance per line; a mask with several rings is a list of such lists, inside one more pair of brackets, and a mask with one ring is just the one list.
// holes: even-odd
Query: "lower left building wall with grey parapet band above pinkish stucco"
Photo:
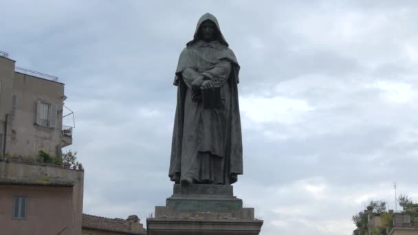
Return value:
[[(69, 227), (67, 230), (70, 233), (63, 233), (63, 235), (81, 234), (83, 171), (3, 161), (0, 162), (0, 181), (1, 179), (45, 183), (45, 185), (59, 181), (72, 181), (74, 183), (74, 186), (69, 188), (0, 186), (1, 232), (8, 231), (5, 234), (58, 234), (65, 225)], [(28, 197), (28, 218), (25, 221), (12, 220), (12, 197), (18, 195)], [(56, 231), (60, 227), (61, 230)], [(14, 233), (14, 231), (19, 231), (19, 233)]]

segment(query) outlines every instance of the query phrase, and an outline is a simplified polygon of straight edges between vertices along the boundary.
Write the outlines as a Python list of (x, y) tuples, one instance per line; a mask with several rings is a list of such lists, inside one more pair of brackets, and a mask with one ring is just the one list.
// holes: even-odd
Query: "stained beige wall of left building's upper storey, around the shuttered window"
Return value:
[[(68, 140), (69, 143), (62, 142), (64, 84), (15, 72), (15, 63), (0, 56), (0, 134), (4, 139), (0, 146), (9, 155), (36, 156), (39, 150), (52, 156), (59, 155), (61, 149), (57, 146), (71, 144)], [(17, 98), (13, 118), (10, 115), (12, 96)], [(57, 105), (55, 128), (36, 124), (38, 100)], [(1, 155), (3, 152), (0, 152)]]

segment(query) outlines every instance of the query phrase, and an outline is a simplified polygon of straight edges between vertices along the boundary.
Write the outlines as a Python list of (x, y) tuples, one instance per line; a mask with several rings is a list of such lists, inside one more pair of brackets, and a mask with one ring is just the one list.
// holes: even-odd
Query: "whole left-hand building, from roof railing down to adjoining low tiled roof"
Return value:
[(83, 167), (39, 157), (72, 144), (65, 85), (15, 64), (0, 51), (0, 235), (146, 234), (137, 216), (83, 214)]

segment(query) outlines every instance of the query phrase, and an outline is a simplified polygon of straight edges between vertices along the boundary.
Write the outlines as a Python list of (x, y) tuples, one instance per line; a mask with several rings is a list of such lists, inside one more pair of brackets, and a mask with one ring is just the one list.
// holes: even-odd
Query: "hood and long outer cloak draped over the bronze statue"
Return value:
[[(196, 47), (201, 41), (198, 38), (199, 27), (203, 21), (210, 20), (214, 22), (219, 32), (216, 43), (213, 43), (211, 47), (214, 47), (216, 53), (210, 56), (205, 54), (199, 54)], [(216, 63), (216, 61), (227, 60), (231, 63), (232, 69), (230, 76), (227, 80), (230, 89), (230, 110), (228, 113), (228, 123), (225, 130), (225, 153), (223, 154), (225, 160), (224, 175), (225, 183), (234, 183), (234, 179), (230, 181), (229, 176), (242, 175), (243, 174), (243, 149), (242, 149), (242, 137), (241, 137), (241, 120), (239, 115), (239, 101), (238, 101), (238, 89), (239, 83), (239, 64), (235, 58), (234, 53), (228, 47), (228, 43), (223, 38), (219, 23), (212, 14), (204, 14), (197, 23), (195, 36), (192, 41), (188, 42), (186, 48), (181, 52), (179, 56), (179, 63), (175, 72), (174, 85), (177, 86), (177, 107), (175, 112), (175, 121), (173, 129), (173, 142), (171, 148), (170, 157), (170, 170), (169, 177), (174, 181), (173, 177), (176, 174), (181, 173), (181, 148), (183, 145), (183, 127), (184, 127), (184, 100), (186, 97), (186, 91), (190, 84), (186, 84), (182, 76), (184, 69), (188, 67), (195, 67), (196, 63)], [(199, 58), (197, 58), (197, 57)], [(228, 182), (229, 181), (229, 182)]]

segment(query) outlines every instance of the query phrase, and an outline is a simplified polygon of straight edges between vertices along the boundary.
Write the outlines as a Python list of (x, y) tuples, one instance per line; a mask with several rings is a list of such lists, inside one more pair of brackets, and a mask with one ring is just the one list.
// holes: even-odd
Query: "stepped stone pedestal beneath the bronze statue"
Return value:
[(257, 235), (263, 221), (254, 219), (254, 208), (243, 208), (232, 186), (174, 185), (166, 206), (155, 207), (155, 218), (146, 220), (148, 235), (248, 234)]

